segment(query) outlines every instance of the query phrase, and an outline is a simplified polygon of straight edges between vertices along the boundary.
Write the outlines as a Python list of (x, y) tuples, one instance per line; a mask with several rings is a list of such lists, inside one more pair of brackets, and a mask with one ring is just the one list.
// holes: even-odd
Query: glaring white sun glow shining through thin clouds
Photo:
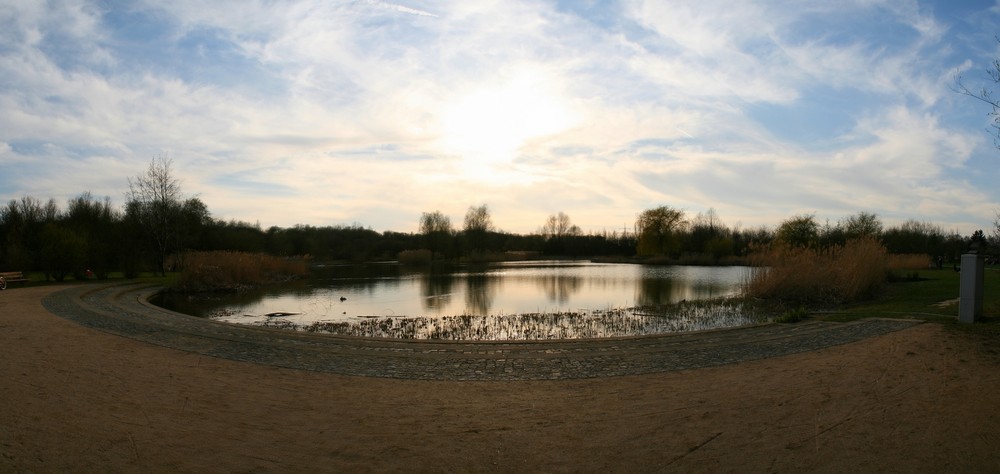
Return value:
[(470, 174), (510, 163), (527, 140), (573, 125), (574, 114), (545, 81), (522, 75), (462, 96), (442, 117), (442, 145), (465, 159)]

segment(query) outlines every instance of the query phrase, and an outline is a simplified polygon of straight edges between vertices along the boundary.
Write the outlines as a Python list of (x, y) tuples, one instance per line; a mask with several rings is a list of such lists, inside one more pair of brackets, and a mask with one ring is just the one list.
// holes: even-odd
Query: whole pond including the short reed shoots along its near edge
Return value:
[(327, 265), (286, 285), (234, 295), (167, 294), (154, 303), (230, 323), (376, 337), (609, 337), (750, 324), (752, 316), (730, 306), (694, 306), (670, 318), (641, 310), (737, 294), (747, 271), (561, 260), (433, 270)]

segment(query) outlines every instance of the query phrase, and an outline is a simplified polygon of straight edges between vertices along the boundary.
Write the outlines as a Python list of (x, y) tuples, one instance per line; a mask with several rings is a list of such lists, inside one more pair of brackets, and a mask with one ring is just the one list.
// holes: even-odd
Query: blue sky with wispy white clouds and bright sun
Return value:
[(643, 210), (774, 228), (1000, 212), (1000, 2), (0, 0), (0, 200), (124, 202), (156, 157), (217, 219), (497, 229)]

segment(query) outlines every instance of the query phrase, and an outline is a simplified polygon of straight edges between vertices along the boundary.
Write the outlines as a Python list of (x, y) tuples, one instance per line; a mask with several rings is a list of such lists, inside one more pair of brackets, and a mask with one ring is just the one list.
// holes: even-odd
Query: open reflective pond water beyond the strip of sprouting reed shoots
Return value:
[[(296, 327), (386, 317), (594, 315), (734, 294), (745, 272), (744, 267), (562, 261), (433, 269), (334, 265), (315, 268), (309, 279), (281, 287), (208, 298), (165, 295), (157, 304), (240, 324)], [(274, 312), (301, 314), (280, 321), (265, 316)]]

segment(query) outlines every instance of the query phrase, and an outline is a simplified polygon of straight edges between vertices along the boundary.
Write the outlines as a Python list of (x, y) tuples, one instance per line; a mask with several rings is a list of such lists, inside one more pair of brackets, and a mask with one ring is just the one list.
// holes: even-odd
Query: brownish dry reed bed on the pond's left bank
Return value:
[(305, 259), (262, 253), (185, 252), (175, 289), (180, 291), (239, 291), (288, 281), (308, 273)]

